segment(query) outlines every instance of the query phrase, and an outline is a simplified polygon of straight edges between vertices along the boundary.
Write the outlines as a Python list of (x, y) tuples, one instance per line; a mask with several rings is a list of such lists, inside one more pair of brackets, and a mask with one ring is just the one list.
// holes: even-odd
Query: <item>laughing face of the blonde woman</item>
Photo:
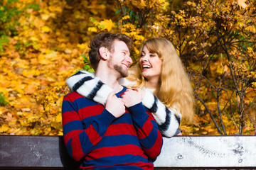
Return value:
[(139, 65), (142, 69), (142, 76), (148, 81), (156, 79), (158, 81), (161, 74), (162, 60), (156, 54), (156, 52), (149, 52), (146, 45), (142, 50), (142, 55), (139, 59)]

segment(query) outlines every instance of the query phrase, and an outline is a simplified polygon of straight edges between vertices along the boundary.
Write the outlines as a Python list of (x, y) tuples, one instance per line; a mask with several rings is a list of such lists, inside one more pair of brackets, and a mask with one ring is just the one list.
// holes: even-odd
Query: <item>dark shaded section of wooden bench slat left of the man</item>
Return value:
[(60, 136), (0, 136), (0, 169), (78, 167)]

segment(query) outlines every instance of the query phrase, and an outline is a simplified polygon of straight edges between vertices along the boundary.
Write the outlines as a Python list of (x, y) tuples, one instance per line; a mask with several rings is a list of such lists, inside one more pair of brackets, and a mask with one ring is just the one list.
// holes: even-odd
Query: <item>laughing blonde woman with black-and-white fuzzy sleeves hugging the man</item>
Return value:
[[(181, 115), (185, 120), (193, 119), (193, 94), (183, 64), (171, 42), (163, 38), (144, 42), (140, 55), (129, 77), (119, 82), (130, 88), (144, 89), (142, 103), (153, 113), (162, 135), (177, 135), (181, 132), (178, 129)], [(112, 91), (100, 79), (94, 78), (94, 74), (85, 71), (70, 77), (67, 84), (72, 91), (102, 105)]]

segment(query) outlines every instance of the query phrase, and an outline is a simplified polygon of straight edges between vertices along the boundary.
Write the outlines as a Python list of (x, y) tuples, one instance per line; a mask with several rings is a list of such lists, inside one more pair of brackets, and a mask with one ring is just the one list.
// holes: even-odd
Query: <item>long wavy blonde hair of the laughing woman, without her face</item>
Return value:
[[(150, 52), (156, 52), (163, 61), (160, 79), (154, 95), (166, 107), (178, 108), (182, 118), (192, 122), (194, 120), (193, 90), (188, 79), (188, 74), (186, 74), (174, 45), (169, 40), (163, 38), (151, 38), (142, 44), (140, 55), (145, 45)], [(132, 74), (127, 79), (136, 81), (132, 87), (146, 87), (146, 79), (142, 76), (142, 69), (139, 67), (139, 63), (132, 67), (131, 71)]]

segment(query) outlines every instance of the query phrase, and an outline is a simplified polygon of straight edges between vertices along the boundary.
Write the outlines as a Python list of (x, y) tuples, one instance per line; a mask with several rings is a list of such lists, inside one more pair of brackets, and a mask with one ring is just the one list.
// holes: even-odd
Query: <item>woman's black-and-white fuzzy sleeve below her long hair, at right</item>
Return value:
[(165, 137), (176, 135), (176, 131), (181, 123), (181, 113), (177, 112), (175, 114), (174, 108), (166, 108), (154, 94), (147, 90), (145, 91), (142, 103), (154, 116), (162, 135)]

